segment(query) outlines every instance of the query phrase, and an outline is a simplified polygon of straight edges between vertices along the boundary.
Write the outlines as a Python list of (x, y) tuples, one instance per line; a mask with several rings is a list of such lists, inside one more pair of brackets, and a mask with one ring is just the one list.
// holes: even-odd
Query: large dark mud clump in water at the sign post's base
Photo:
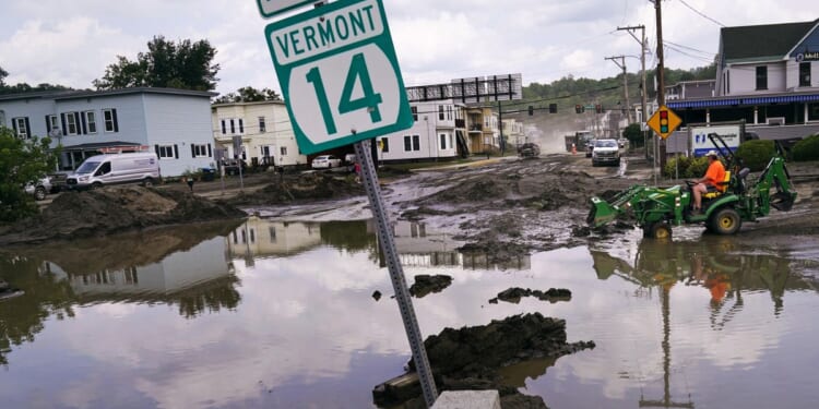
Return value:
[[(438, 390), (498, 389), (503, 408), (545, 408), (541, 397), (525, 396), (505, 386), (500, 368), (537, 358), (559, 358), (587, 348), (594, 341), (566, 341), (566, 321), (544, 317), (539, 313), (510, 316), (488, 325), (446, 328), (424, 342)], [(412, 370), (414, 362), (410, 362)], [(417, 384), (387, 382), (372, 395), (377, 405), (392, 406), (405, 401), (408, 392), (420, 393)], [(417, 396), (405, 407), (423, 407)]]

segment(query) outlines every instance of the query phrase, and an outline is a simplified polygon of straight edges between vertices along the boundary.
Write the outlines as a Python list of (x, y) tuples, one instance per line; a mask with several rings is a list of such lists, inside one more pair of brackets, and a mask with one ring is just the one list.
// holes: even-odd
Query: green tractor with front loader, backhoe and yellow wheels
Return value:
[[(776, 155), (756, 180), (747, 180), (750, 170), (740, 168), (738, 158), (717, 134), (710, 134), (726, 167), (725, 192), (709, 192), (702, 197), (701, 214), (691, 214), (691, 182), (686, 187), (652, 188), (633, 185), (609, 201), (592, 197), (587, 222), (593, 228), (616, 219), (632, 220), (648, 238), (669, 239), (672, 226), (704, 224), (720, 234), (736, 233), (743, 221), (768, 216), (771, 207), (787, 212), (793, 207), (796, 192), (785, 167), (784, 149), (776, 143)], [(717, 142), (720, 144), (717, 144)], [(721, 146), (722, 145), (722, 146)], [(773, 192), (772, 192), (773, 190)]]

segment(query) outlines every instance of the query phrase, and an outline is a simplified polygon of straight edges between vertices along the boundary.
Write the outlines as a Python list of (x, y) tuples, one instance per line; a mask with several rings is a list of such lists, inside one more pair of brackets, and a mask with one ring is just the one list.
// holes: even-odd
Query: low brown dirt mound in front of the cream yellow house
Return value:
[(227, 200), (234, 206), (293, 204), (365, 194), (353, 177), (307, 172), (288, 175), (253, 193)]

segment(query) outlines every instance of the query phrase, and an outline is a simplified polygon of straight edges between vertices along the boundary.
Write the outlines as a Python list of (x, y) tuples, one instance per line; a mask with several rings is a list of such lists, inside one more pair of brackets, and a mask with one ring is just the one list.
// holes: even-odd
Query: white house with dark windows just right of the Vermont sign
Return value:
[(379, 160), (451, 159), (458, 156), (455, 123), (463, 110), (451, 99), (412, 103), (413, 128), (379, 137)]

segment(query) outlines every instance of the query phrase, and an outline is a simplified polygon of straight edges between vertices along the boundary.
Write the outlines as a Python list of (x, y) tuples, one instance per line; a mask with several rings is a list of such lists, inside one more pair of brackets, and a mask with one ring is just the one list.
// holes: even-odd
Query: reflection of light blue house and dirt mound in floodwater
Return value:
[(230, 224), (202, 224), (0, 253), (0, 278), (25, 291), (0, 304), (0, 363), (33, 341), (49, 316), (99, 302), (176, 304), (191, 318), (235, 309), (241, 297), (224, 256)]

